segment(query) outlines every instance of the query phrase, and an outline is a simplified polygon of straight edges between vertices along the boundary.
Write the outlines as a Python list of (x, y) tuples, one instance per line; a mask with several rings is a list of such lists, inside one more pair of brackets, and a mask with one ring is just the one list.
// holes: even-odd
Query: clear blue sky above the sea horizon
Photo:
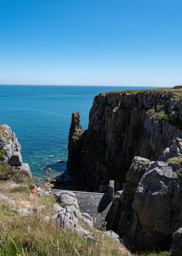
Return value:
[(182, 84), (181, 0), (1, 0), (0, 84)]

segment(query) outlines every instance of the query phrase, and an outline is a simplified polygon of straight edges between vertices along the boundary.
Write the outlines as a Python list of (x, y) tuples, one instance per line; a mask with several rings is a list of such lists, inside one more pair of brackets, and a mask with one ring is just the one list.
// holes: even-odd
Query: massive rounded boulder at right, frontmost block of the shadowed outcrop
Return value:
[(141, 178), (132, 203), (124, 243), (129, 248), (157, 248), (182, 226), (182, 186), (177, 172), (154, 162)]

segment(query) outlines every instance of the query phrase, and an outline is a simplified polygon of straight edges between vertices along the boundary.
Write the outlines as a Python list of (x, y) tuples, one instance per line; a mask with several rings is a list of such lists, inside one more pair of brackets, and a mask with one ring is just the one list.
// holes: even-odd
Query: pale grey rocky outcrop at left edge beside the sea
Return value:
[(8, 163), (13, 169), (20, 170), (20, 174), (24, 173), (25, 178), (32, 177), (29, 165), (23, 164), (18, 138), (8, 125), (0, 124), (0, 150), (4, 154), (0, 157), (0, 161)]

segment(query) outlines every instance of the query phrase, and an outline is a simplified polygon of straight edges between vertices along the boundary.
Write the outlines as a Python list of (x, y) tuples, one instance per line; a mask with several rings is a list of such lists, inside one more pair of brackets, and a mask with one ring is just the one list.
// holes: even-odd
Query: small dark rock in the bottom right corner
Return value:
[(182, 228), (173, 233), (173, 246), (171, 256), (182, 255)]

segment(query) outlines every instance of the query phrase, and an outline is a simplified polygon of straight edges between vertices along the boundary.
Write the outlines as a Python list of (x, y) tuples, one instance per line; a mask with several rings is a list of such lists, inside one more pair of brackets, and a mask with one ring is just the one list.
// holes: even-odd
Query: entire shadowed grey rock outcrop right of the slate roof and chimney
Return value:
[(158, 248), (182, 227), (181, 145), (176, 138), (156, 162), (134, 157), (109, 213), (110, 227), (124, 235), (127, 247)]

